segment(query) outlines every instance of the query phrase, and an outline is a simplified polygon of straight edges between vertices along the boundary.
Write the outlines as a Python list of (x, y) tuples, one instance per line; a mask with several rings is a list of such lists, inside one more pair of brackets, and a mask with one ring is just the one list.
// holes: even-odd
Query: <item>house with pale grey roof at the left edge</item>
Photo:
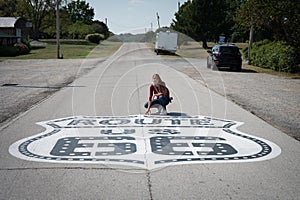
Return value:
[(29, 39), (32, 23), (25, 18), (0, 17), (0, 46), (10, 46)]

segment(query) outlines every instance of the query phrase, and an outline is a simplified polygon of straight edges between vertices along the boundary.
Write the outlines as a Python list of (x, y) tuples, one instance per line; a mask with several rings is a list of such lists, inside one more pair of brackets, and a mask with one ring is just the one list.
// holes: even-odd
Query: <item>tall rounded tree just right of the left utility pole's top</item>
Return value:
[(84, 24), (92, 24), (93, 22), (94, 9), (85, 1), (72, 1), (64, 9), (69, 13), (73, 23), (82, 21)]

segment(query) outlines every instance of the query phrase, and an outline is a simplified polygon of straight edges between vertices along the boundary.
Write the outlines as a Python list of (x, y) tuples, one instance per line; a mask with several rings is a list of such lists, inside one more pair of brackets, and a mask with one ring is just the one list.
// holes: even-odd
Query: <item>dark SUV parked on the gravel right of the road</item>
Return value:
[(242, 70), (242, 54), (239, 48), (233, 44), (217, 44), (212, 50), (208, 50), (207, 68), (219, 69), (227, 67)]

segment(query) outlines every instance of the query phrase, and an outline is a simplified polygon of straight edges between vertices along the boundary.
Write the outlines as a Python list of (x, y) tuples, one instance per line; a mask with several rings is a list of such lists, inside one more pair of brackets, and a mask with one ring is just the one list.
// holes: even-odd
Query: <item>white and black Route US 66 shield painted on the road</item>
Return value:
[(263, 161), (280, 148), (242, 133), (243, 123), (206, 116), (75, 116), (39, 122), (46, 130), (12, 144), (21, 159), (54, 163), (169, 165)]

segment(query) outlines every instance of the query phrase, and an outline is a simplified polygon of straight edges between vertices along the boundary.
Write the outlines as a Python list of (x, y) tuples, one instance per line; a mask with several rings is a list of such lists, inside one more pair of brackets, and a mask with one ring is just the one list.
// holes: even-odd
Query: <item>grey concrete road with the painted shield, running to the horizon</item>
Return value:
[[(1, 199), (299, 198), (299, 142), (173, 62), (125, 43), (2, 128)], [(143, 115), (153, 73), (168, 116)]]

